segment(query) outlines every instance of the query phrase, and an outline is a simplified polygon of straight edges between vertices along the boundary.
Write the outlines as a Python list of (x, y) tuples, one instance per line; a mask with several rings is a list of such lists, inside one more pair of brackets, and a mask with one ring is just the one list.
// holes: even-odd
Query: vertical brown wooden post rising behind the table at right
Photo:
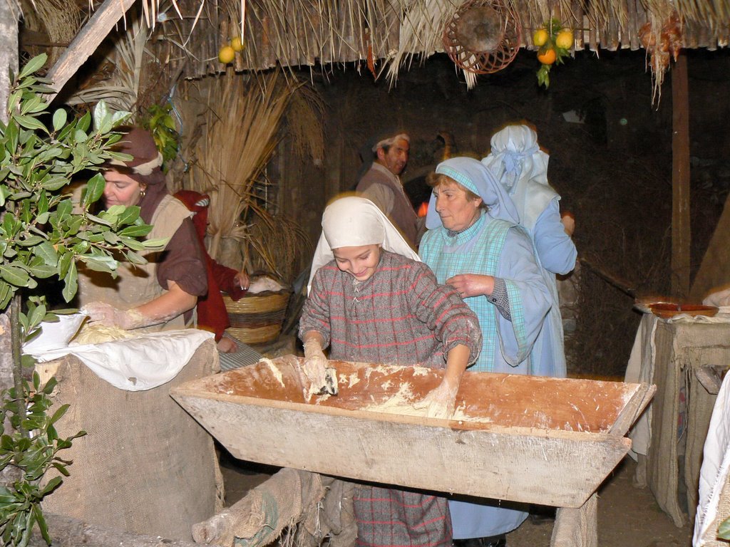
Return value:
[(672, 295), (689, 294), (689, 93), (687, 57), (672, 69)]

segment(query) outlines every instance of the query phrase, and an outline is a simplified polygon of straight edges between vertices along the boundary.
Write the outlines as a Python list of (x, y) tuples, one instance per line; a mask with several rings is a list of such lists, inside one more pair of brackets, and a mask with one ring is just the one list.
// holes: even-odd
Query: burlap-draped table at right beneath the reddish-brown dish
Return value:
[[(716, 396), (697, 373), (728, 365), (730, 322), (667, 322), (643, 315), (626, 381), (656, 384), (656, 395), (629, 434), (638, 461), (636, 481), (650, 486), (677, 527), (688, 516), (694, 521), (702, 448)], [(686, 490), (686, 503), (680, 489)]]

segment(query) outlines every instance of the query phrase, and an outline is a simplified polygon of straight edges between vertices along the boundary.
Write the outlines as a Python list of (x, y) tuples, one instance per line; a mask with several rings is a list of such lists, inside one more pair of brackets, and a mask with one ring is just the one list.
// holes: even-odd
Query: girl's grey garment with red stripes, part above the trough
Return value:
[(334, 260), (317, 271), (299, 335), (310, 330), (330, 346), (330, 359), (390, 365), (444, 368), (458, 344), (474, 362), (482, 344), (479, 321), (456, 290), (439, 285), (427, 265), (385, 250), (364, 282)]

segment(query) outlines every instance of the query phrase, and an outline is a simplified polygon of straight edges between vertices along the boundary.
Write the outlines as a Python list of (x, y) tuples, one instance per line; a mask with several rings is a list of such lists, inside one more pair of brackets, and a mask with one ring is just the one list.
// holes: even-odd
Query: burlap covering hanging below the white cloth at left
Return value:
[(59, 454), (73, 460), (71, 476), (44, 500), (44, 510), (128, 532), (191, 540), (192, 525), (220, 509), (220, 471), (212, 437), (169, 390), (217, 369), (212, 339), (172, 381), (141, 392), (112, 387), (76, 357), (37, 365), (42, 377), (58, 379), (54, 406), (70, 405), (56, 424), (59, 435), (88, 433)]

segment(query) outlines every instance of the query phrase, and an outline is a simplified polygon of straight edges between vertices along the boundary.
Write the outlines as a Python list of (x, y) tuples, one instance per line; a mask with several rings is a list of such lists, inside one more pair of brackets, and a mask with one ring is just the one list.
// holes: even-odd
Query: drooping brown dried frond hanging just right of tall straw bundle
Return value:
[(292, 94), (286, 111), (292, 149), (299, 158), (308, 153), (315, 165), (324, 158), (324, 115), (324, 101), (311, 85), (301, 85)]

